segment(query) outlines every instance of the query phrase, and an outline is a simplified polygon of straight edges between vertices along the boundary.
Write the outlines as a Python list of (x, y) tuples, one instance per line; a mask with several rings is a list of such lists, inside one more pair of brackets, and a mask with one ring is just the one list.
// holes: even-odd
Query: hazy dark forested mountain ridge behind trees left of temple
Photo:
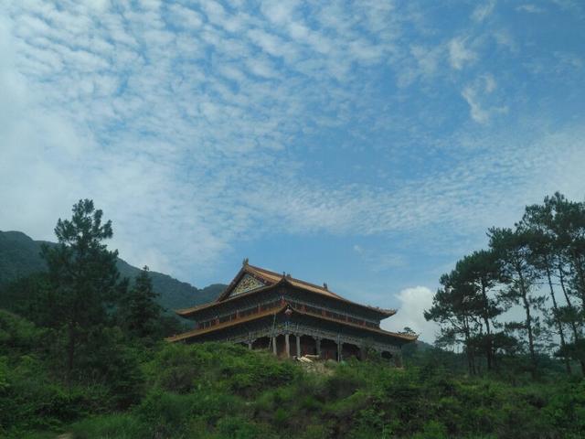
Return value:
[[(34, 241), (21, 231), (0, 231), (0, 287), (19, 277), (47, 269), (39, 255), (43, 242)], [(118, 270), (122, 277), (129, 279), (134, 279), (140, 273), (139, 268), (122, 259), (118, 259)], [(227, 286), (211, 284), (198, 289), (165, 273), (150, 272), (150, 275), (154, 291), (160, 294), (159, 303), (167, 309), (205, 304), (214, 300)]]

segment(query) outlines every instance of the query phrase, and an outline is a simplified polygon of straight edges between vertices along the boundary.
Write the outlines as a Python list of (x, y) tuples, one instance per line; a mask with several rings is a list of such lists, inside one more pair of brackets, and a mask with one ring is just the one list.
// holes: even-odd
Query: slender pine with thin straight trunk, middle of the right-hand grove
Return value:
[(517, 227), (516, 230), (492, 228), (488, 236), (490, 248), (497, 255), (501, 273), (506, 280), (506, 296), (511, 302), (520, 303), (524, 308), (526, 315), (524, 322), (509, 327), (526, 331), (534, 376), (537, 368), (537, 336), (540, 332), (539, 319), (534, 313), (542, 308), (545, 299), (532, 292), (537, 280), (537, 271), (530, 263), (532, 258), (530, 242), (533, 237), (529, 231)]

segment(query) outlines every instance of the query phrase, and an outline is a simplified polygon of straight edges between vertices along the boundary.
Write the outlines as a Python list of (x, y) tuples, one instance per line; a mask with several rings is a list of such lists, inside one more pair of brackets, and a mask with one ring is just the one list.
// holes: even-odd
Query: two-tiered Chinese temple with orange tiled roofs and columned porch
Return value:
[(252, 266), (244, 260), (231, 284), (211, 303), (176, 310), (195, 328), (171, 342), (230, 341), (265, 348), (280, 357), (363, 359), (368, 349), (401, 364), (400, 349), (416, 335), (388, 332), (380, 321), (393, 309), (351, 302), (318, 286)]

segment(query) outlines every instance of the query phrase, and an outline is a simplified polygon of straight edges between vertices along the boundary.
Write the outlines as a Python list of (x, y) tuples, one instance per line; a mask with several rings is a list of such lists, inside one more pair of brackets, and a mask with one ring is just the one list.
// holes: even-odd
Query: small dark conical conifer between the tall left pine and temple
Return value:
[(153, 281), (148, 272), (148, 267), (144, 266), (125, 298), (124, 309), (121, 312), (122, 326), (134, 337), (139, 338), (154, 335), (162, 312), (162, 307), (155, 302), (159, 294), (154, 291)]

